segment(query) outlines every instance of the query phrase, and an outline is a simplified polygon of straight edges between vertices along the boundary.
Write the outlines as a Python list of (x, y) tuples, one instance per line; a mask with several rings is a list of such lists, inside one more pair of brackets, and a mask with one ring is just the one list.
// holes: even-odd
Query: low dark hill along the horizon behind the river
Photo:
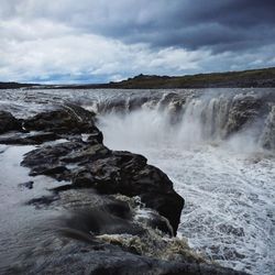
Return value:
[[(32, 87), (32, 84), (0, 82), (0, 88)], [(139, 75), (119, 82), (97, 85), (47, 85), (35, 88), (58, 89), (167, 89), (167, 88), (267, 88), (275, 87), (275, 67), (243, 72), (212, 73), (186, 76)]]

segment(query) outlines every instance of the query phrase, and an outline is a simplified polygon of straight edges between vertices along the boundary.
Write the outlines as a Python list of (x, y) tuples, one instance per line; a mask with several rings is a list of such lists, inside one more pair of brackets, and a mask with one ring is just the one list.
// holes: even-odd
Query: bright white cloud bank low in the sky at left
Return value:
[(197, 68), (199, 59), (209, 55), (173, 47), (153, 51), (146, 44), (127, 45), (95, 34), (78, 34), (45, 20), (10, 20), (1, 28), (1, 80), (44, 80), (62, 74), (76, 78), (86, 75), (95, 81), (98, 76), (113, 80), (140, 73), (179, 74)]

